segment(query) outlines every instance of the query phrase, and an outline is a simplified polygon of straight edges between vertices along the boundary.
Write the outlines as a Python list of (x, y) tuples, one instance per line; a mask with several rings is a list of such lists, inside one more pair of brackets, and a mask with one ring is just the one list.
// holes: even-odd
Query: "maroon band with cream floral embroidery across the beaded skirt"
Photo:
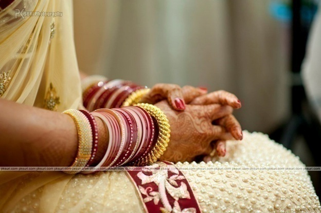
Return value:
[[(168, 162), (157, 162), (151, 166), (145, 166), (139, 172), (128, 172), (137, 184), (142, 201), (150, 212), (154, 212), (156, 208), (163, 213), (200, 212), (186, 178), (174, 165)], [(182, 199), (185, 199), (185, 202)]]

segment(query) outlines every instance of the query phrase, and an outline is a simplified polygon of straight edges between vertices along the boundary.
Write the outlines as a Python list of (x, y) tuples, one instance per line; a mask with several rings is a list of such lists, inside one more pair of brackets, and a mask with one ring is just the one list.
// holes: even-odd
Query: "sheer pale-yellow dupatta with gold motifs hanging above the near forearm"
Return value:
[(72, 9), (68, 0), (15, 0), (0, 11), (1, 98), (58, 111), (80, 107)]

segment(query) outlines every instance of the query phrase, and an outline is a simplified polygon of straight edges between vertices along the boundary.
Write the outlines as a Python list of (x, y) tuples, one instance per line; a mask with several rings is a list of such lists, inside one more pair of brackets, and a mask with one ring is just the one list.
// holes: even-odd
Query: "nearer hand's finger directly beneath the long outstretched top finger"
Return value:
[(208, 118), (210, 122), (223, 118), (224, 116), (231, 114), (233, 108), (230, 106), (222, 106), (220, 104), (211, 104), (211, 105), (188, 105), (191, 110), (195, 110), (199, 113), (200, 116)]

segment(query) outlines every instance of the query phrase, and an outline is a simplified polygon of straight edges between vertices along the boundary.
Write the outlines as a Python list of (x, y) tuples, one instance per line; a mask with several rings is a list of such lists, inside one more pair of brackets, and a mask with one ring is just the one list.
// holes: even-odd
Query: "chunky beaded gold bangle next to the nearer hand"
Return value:
[(170, 125), (165, 113), (158, 107), (143, 103), (136, 104), (135, 106), (145, 109), (152, 117), (156, 119), (159, 127), (157, 142), (152, 148), (151, 152), (143, 159), (135, 162), (135, 165), (140, 166), (154, 163), (164, 154), (170, 138)]

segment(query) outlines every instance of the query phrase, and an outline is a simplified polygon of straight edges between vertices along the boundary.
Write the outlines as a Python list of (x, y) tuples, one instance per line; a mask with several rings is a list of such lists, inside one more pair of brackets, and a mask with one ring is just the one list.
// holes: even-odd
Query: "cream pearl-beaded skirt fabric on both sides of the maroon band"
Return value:
[[(227, 143), (224, 158), (176, 164), (185, 168), (203, 212), (321, 212), (307, 171), (201, 169), (304, 166), (267, 135), (243, 135), (243, 141)], [(2, 212), (144, 212), (133, 183), (121, 171), (74, 176), (0, 172), (0, 195)]]

